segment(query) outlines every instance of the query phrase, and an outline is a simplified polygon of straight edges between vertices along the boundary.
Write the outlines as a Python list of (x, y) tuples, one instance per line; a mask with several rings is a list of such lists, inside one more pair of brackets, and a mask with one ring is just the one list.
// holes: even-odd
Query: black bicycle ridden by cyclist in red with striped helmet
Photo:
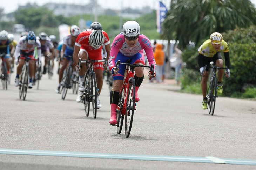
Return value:
[(79, 58), (78, 68), (80, 69), (81, 63), (86, 63), (87, 71), (85, 73), (85, 91), (81, 93), (83, 104), (85, 105), (85, 114), (89, 116), (90, 102), (92, 102), (93, 117), (96, 119), (97, 115), (97, 97), (100, 96), (98, 93), (98, 87), (96, 82), (96, 75), (94, 72), (93, 63), (105, 62), (104, 60), (83, 60)]

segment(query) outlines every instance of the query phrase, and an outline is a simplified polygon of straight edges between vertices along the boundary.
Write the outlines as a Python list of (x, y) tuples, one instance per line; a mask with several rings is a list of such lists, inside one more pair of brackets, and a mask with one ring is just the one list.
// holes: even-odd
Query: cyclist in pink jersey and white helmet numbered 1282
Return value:
[[(113, 41), (108, 66), (113, 74), (113, 87), (110, 92), (111, 118), (110, 124), (117, 124), (116, 108), (119, 101), (119, 92), (122, 88), (125, 65), (120, 65), (118, 72), (115, 70), (115, 63), (120, 60), (127, 62), (130, 59), (131, 64), (145, 65), (145, 50), (149, 64), (154, 64), (155, 76), (155, 59), (152, 51), (150, 40), (143, 34), (140, 34), (140, 25), (136, 21), (127, 21), (123, 25), (123, 32), (117, 35)], [(135, 71), (135, 101), (139, 101), (138, 89), (144, 79), (144, 67), (136, 67)], [(149, 77), (152, 77), (149, 73)]]

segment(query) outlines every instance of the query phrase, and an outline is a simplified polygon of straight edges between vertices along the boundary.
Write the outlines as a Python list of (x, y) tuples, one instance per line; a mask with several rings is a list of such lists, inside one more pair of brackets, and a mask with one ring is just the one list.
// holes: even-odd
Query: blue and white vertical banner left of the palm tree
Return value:
[(156, 25), (157, 25), (157, 32), (162, 32), (162, 22), (164, 19), (166, 19), (166, 13), (168, 12), (166, 6), (159, 2), (157, 5), (157, 11), (156, 11)]

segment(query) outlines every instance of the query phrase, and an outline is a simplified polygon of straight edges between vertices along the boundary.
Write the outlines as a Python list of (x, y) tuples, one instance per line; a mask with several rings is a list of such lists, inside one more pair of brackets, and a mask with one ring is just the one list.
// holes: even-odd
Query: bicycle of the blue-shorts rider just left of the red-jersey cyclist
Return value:
[(63, 74), (63, 78), (62, 78), (62, 82), (61, 82), (61, 91), (60, 93), (62, 93), (61, 95), (61, 98), (64, 100), (66, 95), (67, 95), (67, 91), (68, 89), (71, 89), (72, 87), (72, 73), (73, 73), (73, 68), (72, 68), (72, 65), (73, 65), (73, 57), (72, 59), (69, 61), (69, 64), (68, 64), (68, 68), (66, 69), (66, 73)]

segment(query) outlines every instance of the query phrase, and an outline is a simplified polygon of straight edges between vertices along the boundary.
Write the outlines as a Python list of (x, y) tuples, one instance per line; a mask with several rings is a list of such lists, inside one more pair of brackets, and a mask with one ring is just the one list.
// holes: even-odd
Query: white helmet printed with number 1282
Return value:
[(127, 21), (123, 24), (123, 35), (126, 37), (140, 35), (140, 25), (136, 21)]

